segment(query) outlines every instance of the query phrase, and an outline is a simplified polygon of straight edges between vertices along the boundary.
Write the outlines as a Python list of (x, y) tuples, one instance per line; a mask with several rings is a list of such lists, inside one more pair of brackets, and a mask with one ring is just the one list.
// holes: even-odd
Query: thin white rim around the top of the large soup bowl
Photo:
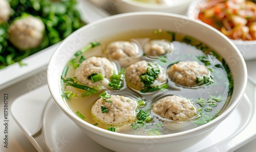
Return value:
[[(217, 118), (215, 118), (214, 120), (211, 120), (210, 122), (203, 124), (201, 126), (198, 126), (194, 129), (190, 129), (187, 131), (183, 131), (183, 132), (179, 132), (179, 133), (174, 133), (174, 134), (166, 134), (166, 135), (161, 135), (161, 136), (143, 136), (143, 135), (129, 135), (129, 134), (123, 134), (123, 133), (116, 133), (116, 132), (111, 132), (105, 129), (101, 129), (98, 128), (97, 126), (94, 126), (93, 124), (90, 124), (82, 119), (80, 119), (79, 117), (77, 117), (73, 112), (71, 112), (70, 110), (67, 110), (67, 107), (64, 106), (63, 104), (60, 104), (60, 102), (63, 102), (63, 99), (60, 97), (60, 94), (56, 94), (56, 91), (60, 91), (60, 90), (53, 90), (53, 85), (51, 85), (51, 75), (49, 72), (49, 67), (51, 66), (51, 63), (54, 62), (54, 57), (57, 56), (60, 48), (62, 47), (63, 43), (68, 42), (71, 37), (73, 35), (76, 35), (77, 33), (79, 33), (80, 31), (82, 31), (83, 29), (86, 28), (90, 28), (93, 27), (95, 24), (98, 24), (100, 22), (104, 22), (106, 20), (113, 20), (113, 19), (118, 19), (120, 17), (130, 17), (130, 16), (143, 16), (143, 15), (156, 15), (156, 16), (168, 16), (168, 17), (174, 17), (174, 18), (181, 18), (181, 19), (186, 19), (189, 20), (191, 22), (197, 23), (202, 27), (206, 27), (209, 30), (213, 30), (216, 33), (218, 33), (218, 35), (220, 35), (220, 37), (223, 37), (226, 41), (228, 41), (228, 43), (234, 48), (234, 50), (237, 52), (238, 57), (240, 58), (240, 62), (241, 62), (241, 66), (243, 67), (243, 86), (240, 88), (240, 94), (238, 95), (238, 97), (236, 99), (233, 99), (235, 102), (230, 105), (229, 108), (227, 108), (220, 116), (218, 116)], [(53, 63), (54, 64), (54, 63)], [(188, 134), (191, 134), (193, 136), (198, 134), (198, 131), (202, 130), (203, 132), (206, 132), (207, 130), (210, 130), (211, 128), (213, 128), (214, 126), (217, 126), (222, 119), (224, 119), (225, 117), (227, 117), (240, 103), (243, 94), (245, 92), (245, 88), (246, 88), (246, 84), (247, 84), (247, 69), (246, 69), (246, 64), (245, 61), (241, 55), (241, 53), (239, 52), (239, 49), (237, 48), (236, 45), (234, 45), (230, 39), (228, 39), (227, 37), (225, 37), (221, 32), (219, 32), (218, 30), (216, 30), (215, 28), (212, 28), (211, 26), (201, 22), (201, 21), (197, 21), (197, 20), (193, 20), (191, 18), (188, 18), (184, 15), (179, 15), (179, 14), (172, 14), (172, 13), (165, 13), (165, 12), (130, 12), (130, 13), (122, 13), (122, 14), (117, 14), (117, 15), (113, 15), (113, 16), (109, 16), (106, 18), (102, 18), (100, 20), (97, 20), (95, 22), (89, 23), (86, 26), (76, 30), (75, 32), (73, 32), (71, 35), (69, 35), (66, 39), (64, 39), (58, 46), (58, 48), (55, 50), (54, 54), (52, 55), (49, 65), (48, 65), (48, 71), (47, 71), (47, 81), (48, 81), (48, 87), (50, 90), (50, 93), (55, 101), (55, 103), (57, 104), (57, 106), (61, 109), (61, 111), (63, 111), (68, 117), (70, 117), (72, 120), (74, 119), (76, 122), (75, 123), (79, 123), (79, 125), (83, 125), (83, 126), (87, 126), (87, 130), (89, 130), (90, 132), (93, 132), (95, 134), (98, 134), (100, 136), (105, 136), (105, 137), (120, 137), (120, 139), (124, 139), (127, 141), (131, 141), (131, 139), (166, 139), (166, 138), (182, 138), (183, 136), (187, 136)], [(59, 79), (60, 80), (60, 79)], [(60, 84), (60, 83), (58, 83)], [(58, 86), (59, 87), (59, 86)], [(55, 93), (54, 93), (55, 92)], [(73, 120), (73, 121), (74, 121)], [(209, 128), (209, 125), (212, 125), (212, 127)], [(200, 132), (203, 133), (203, 132)]]

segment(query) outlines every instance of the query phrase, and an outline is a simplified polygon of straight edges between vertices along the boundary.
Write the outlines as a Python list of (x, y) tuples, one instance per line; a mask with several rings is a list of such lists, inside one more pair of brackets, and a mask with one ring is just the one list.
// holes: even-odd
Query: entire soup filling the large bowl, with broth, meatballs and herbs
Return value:
[[(152, 31), (102, 37), (77, 51), (63, 69), (61, 91), (78, 117), (112, 132), (148, 136), (193, 129), (221, 114), (233, 90), (225, 60), (193, 37)], [(152, 42), (169, 51), (146, 54)], [(124, 46), (139, 52), (127, 56)]]

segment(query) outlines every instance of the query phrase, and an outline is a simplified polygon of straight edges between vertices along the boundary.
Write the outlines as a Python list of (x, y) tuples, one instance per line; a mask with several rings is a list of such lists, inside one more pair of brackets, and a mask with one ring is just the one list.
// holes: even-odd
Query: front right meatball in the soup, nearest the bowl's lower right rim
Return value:
[(190, 100), (177, 95), (163, 97), (153, 105), (152, 111), (173, 122), (188, 121), (196, 116), (196, 108)]

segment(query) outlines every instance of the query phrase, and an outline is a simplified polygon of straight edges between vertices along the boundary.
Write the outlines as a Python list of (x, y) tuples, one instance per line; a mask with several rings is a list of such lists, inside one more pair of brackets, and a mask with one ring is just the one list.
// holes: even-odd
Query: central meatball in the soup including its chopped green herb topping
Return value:
[[(151, 80), (144, 81), (145, 77)], [(166, 82), (166, 74), (163, 68), (157, 63), (138, 61), (125, 68), (125, 80), (128, 86), (141, 91), (145, 87), (158, 87)]]

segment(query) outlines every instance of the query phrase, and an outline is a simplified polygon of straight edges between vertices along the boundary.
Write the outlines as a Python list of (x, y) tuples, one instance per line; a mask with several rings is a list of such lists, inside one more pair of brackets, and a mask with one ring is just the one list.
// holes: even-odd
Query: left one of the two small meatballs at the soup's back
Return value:
[(134, 57), (139, 54), (138, 45), (129, 41), (116, 41), (110, 43), (105, 50), (108, 58), (122, 60), (127, 57)]

